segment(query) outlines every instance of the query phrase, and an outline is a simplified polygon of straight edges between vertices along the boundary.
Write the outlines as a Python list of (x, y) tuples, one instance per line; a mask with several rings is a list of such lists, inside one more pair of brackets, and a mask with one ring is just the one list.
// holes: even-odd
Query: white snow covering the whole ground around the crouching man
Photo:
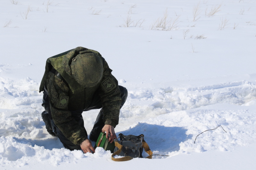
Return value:
[[(255, 169), (255, 0), (1, 0), (0, 13), (1, 170)], [(114, 162), (47, 133), (46, 59), (79, 46), (128, 89), (116, 134), (168, 157)], [(88, 132), (98, 112), (83, 113)]]

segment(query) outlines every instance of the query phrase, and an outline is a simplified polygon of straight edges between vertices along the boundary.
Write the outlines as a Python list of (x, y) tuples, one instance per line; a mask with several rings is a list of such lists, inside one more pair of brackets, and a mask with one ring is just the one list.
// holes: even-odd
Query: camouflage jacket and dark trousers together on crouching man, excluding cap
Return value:
[[(95, 132), (99, 133), (104, 124), (116, 127), (120, 108), (127, 98), (127, 90), (118, 86), (118, 81), (111, 74), (112, 70), (101, 55), (103, 77), (99, 84), (92, 88), (84, 88), (74, 81), (71, 76), (70, 60), (78, 52), (86, 50), (90, 55), (92, 53), (100, 55), (97, 51), (78, 47), (69, 50), (64, 55), (53, 56), (54, 60), (51, 60), (52, 57), (50, 57), (46, 62), (45, 74), (40, 85), (40, 92), (44, 91), (42, 106), (44, 106), (45, 112), (43, 112), (42, 117), (44, 114), (50, 113), (51, 125), (49, 126), (52, 126), (52, 131), (60, 138), (63, 145), (70, 150), (79, 149), (79, 144), (88, 138), (81, 115), (83, 111), (102, 107), (91, 132), (93, 136), (95, 135), (92, 134), (93, 130), (95, 131), (98, 128)], [(61, 68), (63, 70), (58, 69), (60, 64), (62, 64)], [(51, 72), (51, 67), (59, 71), (62, 78)], [(79, 89), (83, 91), (79, 91)], [(46, 121), (44, 120), (44, 122)], [(97, 137), (98, 135), (96, 134)]]

